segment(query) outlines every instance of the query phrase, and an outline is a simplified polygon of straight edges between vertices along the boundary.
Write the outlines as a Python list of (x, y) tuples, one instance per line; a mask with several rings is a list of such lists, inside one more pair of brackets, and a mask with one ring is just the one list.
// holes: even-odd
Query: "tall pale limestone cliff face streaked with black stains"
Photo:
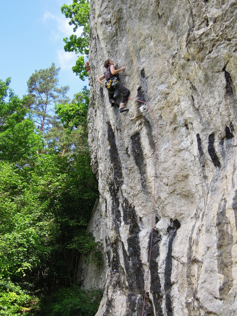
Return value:
[(233, 0), (91, 0), (88, 124), (100, 201), (90, 229), (104, 266), (82, 278), (105, 289), (97, 316), (142, 315), (157, 132), (147, 104), (110, 106), (96, 82), (107, 58), (126, 67), (121, 82), (150, 100), (158, 121), (144, 315), (237, 310), (236, 16)]

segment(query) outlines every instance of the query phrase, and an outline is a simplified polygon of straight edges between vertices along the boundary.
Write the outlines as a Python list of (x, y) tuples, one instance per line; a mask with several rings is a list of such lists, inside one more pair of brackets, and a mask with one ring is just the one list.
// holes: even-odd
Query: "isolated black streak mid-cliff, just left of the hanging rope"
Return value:
[(132, 150), (132, 155), (134, 157), (135, 163), (138, 167), (139, 173), (140, 173), (140, 178), (141, 178), (141, 183), (142, 183), (142, 188), (143, 190), (147, 190), (147, 185), (146, 185), (146, 177), (145, 177), (145, 166), (144, 166), (144, 159), (143, 159), (143, 151), (142, 151), (142, 145), (141, 145), (141, 140), (140, 140), (140, 134), (137, 132), (133, 136), (131, 136), (131, 150)]

